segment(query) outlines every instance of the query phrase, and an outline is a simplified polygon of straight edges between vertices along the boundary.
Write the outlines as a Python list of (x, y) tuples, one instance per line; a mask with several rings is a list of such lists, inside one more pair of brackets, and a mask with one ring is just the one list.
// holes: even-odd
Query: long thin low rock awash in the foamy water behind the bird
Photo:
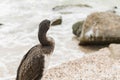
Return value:
[(54, 8), (52, 8), (52, 10), (53, 11), (58, 11), (58, 10), (62, 10), (62, 9), (69, 8), (69, 7), (88, 7), (88, 8), (92, 8), (92, 6), (87, 5), (87, 4), (71, 4), (71, 5), (55, 6)]

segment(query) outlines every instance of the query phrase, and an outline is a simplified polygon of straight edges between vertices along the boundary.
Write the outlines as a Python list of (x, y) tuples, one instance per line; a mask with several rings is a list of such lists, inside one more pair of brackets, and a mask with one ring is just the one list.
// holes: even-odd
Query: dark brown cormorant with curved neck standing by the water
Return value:
[(16, 80), (41, 80), (46, 65), (45, 57), (53, 52), (55, 45), (53, 38), (46, 36), (49, 28), (49, 20), (40, 23), (38, 39), (41, 44), (32, 47), (23, 57)]

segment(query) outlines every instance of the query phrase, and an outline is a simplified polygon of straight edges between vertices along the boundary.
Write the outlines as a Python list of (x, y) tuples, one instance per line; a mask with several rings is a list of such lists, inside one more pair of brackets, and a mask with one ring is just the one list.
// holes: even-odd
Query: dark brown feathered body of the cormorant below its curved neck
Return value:
[(31, 48), (22, 59), (17, 71), (16, 80), (37, 80), (43, 75), (45, 66), (45, 53), (52, 53), (54, 46), (37, 45)]

